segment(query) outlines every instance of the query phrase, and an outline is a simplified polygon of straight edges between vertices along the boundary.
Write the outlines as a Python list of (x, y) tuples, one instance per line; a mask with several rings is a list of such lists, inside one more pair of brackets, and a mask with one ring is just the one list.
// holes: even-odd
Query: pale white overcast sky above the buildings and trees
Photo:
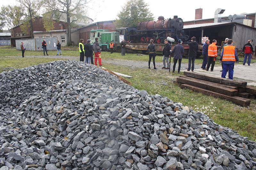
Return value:
[[(88, 6), (87, 16), (96, 21), (114, 20), (127, 0), (92, 0)], [(242, 3), (241, 0), (235, 1), (202, 1), (202, 0), (145, 0), (148, 3), (149, 10), (154, 14), (155, 19), (158, 16), (172, 18), (174, 15), (182, 18), (183, 21), (195, 19), (195, 9), (203, 8), (203, 19), (214, 18), (214, 12), (217, 8), (225, 9), (222, 16), (253, 13), (256, 12), (256, 1)], [(16, 0), (0, 0), (0, 5), (14, 5)]]

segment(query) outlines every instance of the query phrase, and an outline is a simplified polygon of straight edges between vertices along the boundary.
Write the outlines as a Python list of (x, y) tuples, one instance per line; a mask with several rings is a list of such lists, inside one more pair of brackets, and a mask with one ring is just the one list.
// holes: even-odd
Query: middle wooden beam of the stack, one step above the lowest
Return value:
[(237, 90), (219, 86), (219, 83), (199, 80), (195, 78), (177, 77), (176, 81), (182, 84), (189, 84), (206, 90), (211, 90), (228, 96), (236, 96)]

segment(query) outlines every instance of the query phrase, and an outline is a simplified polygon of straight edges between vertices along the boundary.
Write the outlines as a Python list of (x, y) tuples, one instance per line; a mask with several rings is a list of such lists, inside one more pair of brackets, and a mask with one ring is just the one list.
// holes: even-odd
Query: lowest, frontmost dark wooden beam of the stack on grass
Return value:
[(238, 97), (238, 96), (227, 96), (227, 95), (223, 95), (223, 94), (220, 94), (220, 93), (217, 93), (217, 92), (212, 92), (210, 90), (206, 90), (206, 89), (198, 88), (198, 87), (195, 87), (195, 86), (191, 86), (191, 85), (188, 85), (188, 84), (181, 84), (180, 88), (181, 89), (190, 89), (192, 91), (203, 93), (205, 95), (220, 97), (222, 99), (226, 99), (226, 100), (231, 101), (231, 102), (233, 102), (237, 105), (240, 105), (240, 106), (248, 106), (251, 103), (251, 100), (249, 100), (249, 99), (244, 99), (244, 98)]

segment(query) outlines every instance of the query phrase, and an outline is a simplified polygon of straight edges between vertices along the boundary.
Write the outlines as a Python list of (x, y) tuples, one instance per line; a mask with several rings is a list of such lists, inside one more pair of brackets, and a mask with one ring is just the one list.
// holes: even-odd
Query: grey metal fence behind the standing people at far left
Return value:
[(26, 50), (29, 51), (43, 51), (42, 48), (42, 41), (45, 39), (45, 42), (47, 44), (47, 50), (57, 50), (57, 40), (58, 37), (44, 37), (44, 38), (34, 38), (34, 39), (16, 39), (16, 49), (20, 49), (21, 42), (24, 42), (24, 46)]

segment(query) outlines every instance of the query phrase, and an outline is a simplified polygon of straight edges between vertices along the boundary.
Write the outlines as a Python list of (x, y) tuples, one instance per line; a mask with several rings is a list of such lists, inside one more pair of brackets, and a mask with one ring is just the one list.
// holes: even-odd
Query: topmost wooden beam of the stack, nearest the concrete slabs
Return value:
[(215, 83), (226, 84), (226, 85), (236, 86), (236, 87), (246, 87), (247, 85), (247, 82), (245, 81), (234, 81), (234, 80), (229, 80), (224, 78), (211, 77), (208, 75), (203, 75), (203, 74), (198, 74), (198, 73), (193, 73), (188, 71), (184, 71), (184, 75), (201, 79), (201, 80), (206, 80), (206, 81), (211, 81)]

